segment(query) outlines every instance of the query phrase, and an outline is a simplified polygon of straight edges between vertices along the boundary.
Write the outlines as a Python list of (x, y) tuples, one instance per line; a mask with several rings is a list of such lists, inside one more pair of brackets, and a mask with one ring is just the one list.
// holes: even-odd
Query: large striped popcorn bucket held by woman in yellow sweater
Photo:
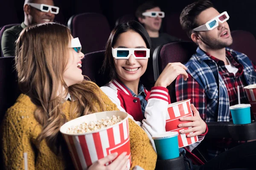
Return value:
[[(80, 125), (83, 122), (90, 123), (91, 121), (106, 119), (107, 116), (111, 118), (113, 115), (116, 117), (120, 116), (123, 120), (113, 126), (93, 132), (83, 134), (67, 133), (69, 127)], [(60, 131), (67, 143), (76, 170), (87, 170), (97, 160), (115, 152), (118, 153), (118, 156), (123, 152), (127, 152), (127, 155), (130, 155), (127, 170), (130, 169), (131, 148), (128, 113), (122, 111), (105, 111), (81, 116), (65, 123), (61, 126)]]

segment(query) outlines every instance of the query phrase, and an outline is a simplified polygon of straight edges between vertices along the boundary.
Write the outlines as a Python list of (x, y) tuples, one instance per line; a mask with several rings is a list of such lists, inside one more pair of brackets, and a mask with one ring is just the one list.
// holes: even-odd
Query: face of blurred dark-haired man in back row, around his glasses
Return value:
[[(150, 11), (161, 11), (159, 7), (154, 7), (151, 9), (146, 10), (145, 12)], [(160, 17), (145, 17), (141, 18), (140, 22), (144, 24), (146, 30), (150, 31), (159, 31), (162, 24), (162, 18)]]

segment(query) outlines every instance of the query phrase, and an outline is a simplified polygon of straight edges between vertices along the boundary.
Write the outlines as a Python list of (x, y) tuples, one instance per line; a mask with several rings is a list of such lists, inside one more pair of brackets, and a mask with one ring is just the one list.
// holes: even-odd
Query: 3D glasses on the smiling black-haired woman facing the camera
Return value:
[(131, 54), (135, 59), (149, 58), (150, 49), (148, 48), (112, 48), (112, 55), (116, 59), (128, 59)]

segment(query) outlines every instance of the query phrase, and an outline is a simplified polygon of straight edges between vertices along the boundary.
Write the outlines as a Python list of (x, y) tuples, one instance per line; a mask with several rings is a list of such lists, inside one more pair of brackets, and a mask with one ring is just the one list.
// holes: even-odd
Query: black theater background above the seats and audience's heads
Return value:
[[(172, 24), (172, 30), (165, 30), (169, 34), (175, 35), (175, 30), (180, 29), (178, 23), (181, 10), (195, 0), (157, 0), (160, 8), (166, 13), (163, 20), (163, 27)], [(134, 14), (136, 7), (145, 0), (54, 0), (55, 6), (60, 8), (60, 12), (55, 19), (59, 23), (67, 25), (69, 18), (75, 14), (85, 12), (96, 12), (105, 15), (112, 29), (119, 17), (127, 14)], [(0, 0), (0, 27), (21, 23), (24, 0)], [(256, 1), (254, 0), (212, 0), (219, 12), (227, 11), (230, 15), (228, 21), (231, 31), (250, 31), (256, 36)], [(169, 15), (169, 17), (168, 17)], [(171, 18), (171, 19), (170, 19)], [(170, 19), (170, 20), (169, 20)], [(90, 24), (90, 23), (88, 23)], [(182, 35), (181, 38), (183, 38)], [(186, 38), (186, 37), (185, 37)]]

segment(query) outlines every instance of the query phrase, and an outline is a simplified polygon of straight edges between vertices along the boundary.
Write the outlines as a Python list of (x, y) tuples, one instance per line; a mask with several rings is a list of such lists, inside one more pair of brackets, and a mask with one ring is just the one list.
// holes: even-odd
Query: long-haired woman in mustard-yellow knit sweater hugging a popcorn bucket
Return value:
[[(23, 92), (3, 121), (6, 169), (74, 169), (61, 125), (79, 116), (118, 110), (100, 88), (81, 74), (81, 44), (57, 23), (26, 27), (17, 40), (16, 70)], [(86, 61), (84, 61), (86, 62)], [(145, 132), (129, 119), (131, 169), (153, 170), (156, 153)], [(122, 170), (125, 153), (109, 155), (89, 170)], [(108, 166), (104, 164), (114, 160)]]

